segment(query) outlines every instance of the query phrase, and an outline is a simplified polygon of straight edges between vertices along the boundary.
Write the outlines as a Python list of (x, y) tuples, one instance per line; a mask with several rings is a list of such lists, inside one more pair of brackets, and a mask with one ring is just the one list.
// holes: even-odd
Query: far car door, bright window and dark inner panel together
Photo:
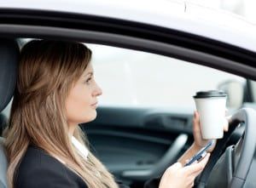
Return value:
[(243, 77), (163, 55), (85, 45), (94, 53), (103, 94), (96, 120), (81, 128), (96, 157), (131, 187), (162, 174), (192, 145), (196, 91), (224, 88), (227, 81), (246, 83)]

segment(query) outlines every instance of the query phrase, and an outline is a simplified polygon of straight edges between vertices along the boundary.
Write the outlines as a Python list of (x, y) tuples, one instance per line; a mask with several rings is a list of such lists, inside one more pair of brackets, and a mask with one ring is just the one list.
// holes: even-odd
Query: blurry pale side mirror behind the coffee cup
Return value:
[(228, 94), (227, 107), (238, 109), (241, 107), (244, 97), (245, 83), (237, 80), (228, 80), (218, 84), (218, 89)]

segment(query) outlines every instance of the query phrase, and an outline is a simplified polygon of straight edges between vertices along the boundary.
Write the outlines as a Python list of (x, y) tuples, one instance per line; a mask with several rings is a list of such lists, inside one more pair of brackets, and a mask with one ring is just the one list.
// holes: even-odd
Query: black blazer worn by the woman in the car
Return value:
[[(119, 188), (128, 188), (116, 181)], [(147, 188), (158, 187), (159, 179), (152, 179)], [(42, 149), (30, 145), (15, 174), (15, 188), (87, 188), (84, 180)]]

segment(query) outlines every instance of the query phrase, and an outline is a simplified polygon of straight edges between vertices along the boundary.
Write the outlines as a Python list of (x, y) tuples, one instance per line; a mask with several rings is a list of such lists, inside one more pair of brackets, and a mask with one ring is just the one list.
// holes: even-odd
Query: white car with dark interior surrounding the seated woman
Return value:
[[(81, 128), (116, 177), (136, 188), (160, 176), (193, 142), (193, 94), (222, 89), (230, 130), (195, 187), (256, 187), (255, 25), (186, 1), (10, 0), (0, 9), (2, 127), (15, 73), (10, 41), (20, 48), (34, 38), (85, 43), (104, 94), (96, 120)], [(7, 187), (0, 151), (0, 186)]]

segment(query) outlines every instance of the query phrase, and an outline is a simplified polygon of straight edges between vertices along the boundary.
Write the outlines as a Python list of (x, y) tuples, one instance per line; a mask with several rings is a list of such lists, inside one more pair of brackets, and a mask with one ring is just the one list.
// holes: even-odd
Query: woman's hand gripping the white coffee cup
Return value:
[[(228, 122), (228, 119), (225, 118), (224, 131), (227, 132), (228, 130), (229, 130), (229, 122)], [(195, 148), (195, 150), (199, 151), (203, 146), (207, 145), (208, 140), (204, 140), (201, 136), (199, 113), (197, 111), (195, 111), (194, 113), (193, 134), (194, 134), (193, 147)], [(216, 145), (216, 142), (214, 145), (212, 145), (212, 147), (208, 151), (212, 152), (215, 145)]]

